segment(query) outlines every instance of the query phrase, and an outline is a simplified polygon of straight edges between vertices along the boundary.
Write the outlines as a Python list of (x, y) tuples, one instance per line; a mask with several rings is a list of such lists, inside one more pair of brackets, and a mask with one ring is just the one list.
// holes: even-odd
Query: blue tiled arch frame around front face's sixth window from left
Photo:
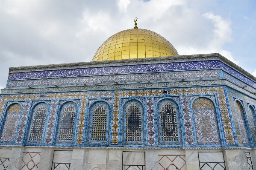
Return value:
[[(161, 115), (160, 115), (160, 108), (162, 106), (162, 104), (165, 104), (165, 103), (171, 103), (174, 105), (175, 109), (176, 109), (176, 118), (177, 118), (177, 128), (178, 128), (178, 139), (179, 141), (162, 141), (162, 129), (161, 129)], [(179, 102), (175, 99), (175, 98), (171, 98), (171, 97), (165, 97), (165, 98), (162, 98), (160, 99), (159, 101), (156, 102), (156, 114), (157, 114), (157, 128), (158, 128), (158, 141), (159, 141), (159, 145), (163, 144), (172, 144), (172, 143), (181, 143), (182, 142), (182, 139), (183, 139), (183, 136), (181, 138), (181, 124), (180, 124), (180, 112), (181, 112), (181, 109), (180, 109), (180, 106), (179, 106)]]

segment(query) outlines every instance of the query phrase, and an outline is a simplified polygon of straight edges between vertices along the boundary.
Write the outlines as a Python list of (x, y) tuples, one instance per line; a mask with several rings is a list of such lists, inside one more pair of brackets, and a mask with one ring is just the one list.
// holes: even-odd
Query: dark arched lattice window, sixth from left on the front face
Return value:
[(165, 102), (160, 107), (162, 141), (179, 141), (176, 107)]

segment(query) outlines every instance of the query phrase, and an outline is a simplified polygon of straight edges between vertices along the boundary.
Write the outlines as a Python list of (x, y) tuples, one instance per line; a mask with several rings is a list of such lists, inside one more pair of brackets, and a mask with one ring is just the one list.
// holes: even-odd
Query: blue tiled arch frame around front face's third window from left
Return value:
[[(69, 105), (69, 104), (72, 104), (74, 107), (75, 107), (75, 119), (74, 119), (74, 127), (73, 127), (73, 135), (72, 135), (72, 140), (71, 141), (68, 141), (68, 140), (59, 140), (59, 133), (60, 133), (60, 127), (61, 127), (61, 124), (62, 124), (62, 114), (63, 114), (63, 109)], [(55, 145), (62, 145), (62, 144), (74, 144), (75, 142), (75, 132), (76, 132), (76, 127), (77, 127), (77, 113), (78, 113), (78, 106), (77, 104), (74, 102), (74, 101), (66, 101), (64, 102), (63, 104), (61, 104), (59, 106), (59, 114), (58, 114), (58, 117), (56, 118), (56, 131), (57, 133), (54, 135), (56, 140), (55, 140)]]

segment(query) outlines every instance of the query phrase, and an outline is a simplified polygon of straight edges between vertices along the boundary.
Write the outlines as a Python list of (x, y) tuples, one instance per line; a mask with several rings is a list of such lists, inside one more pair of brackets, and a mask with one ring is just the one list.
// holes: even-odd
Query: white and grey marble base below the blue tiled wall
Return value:
[[(199, 170), (200, 162), (223, 162), (227, 170), (246, 170), (245, 151), (197, 149), (58, 149), (45, 147), (1, 147), (0, 157), (9, 157), (7, 170), (20, 170), (24, 152), (41, 153), (38, 170), (51, 170), (52, 162), (68, 163), (70, 170), (121, 170), (123, 165), (142, 165), (145, 170)], [(249, 150), (256, 168), (256, 150)], [(223, 154), (222, 154), (223, 153)], [(24, 157), (24, 160), (26, 158)], [(38, 160), (36, 160), (38, 162)], [(26, 160), (25, 160), (26, 161)], [(223, 163), (222, 163), (223, 164)], [(59, 167), (59, 169), (65, 168)], [(132, 169), (133, 168), (133, 169)], [(136, 170), (136, 167), (130, 167)], [(216, 168), (215, 168), (216, 169)], [(219, 168), (221, 170), (221, 168)]]

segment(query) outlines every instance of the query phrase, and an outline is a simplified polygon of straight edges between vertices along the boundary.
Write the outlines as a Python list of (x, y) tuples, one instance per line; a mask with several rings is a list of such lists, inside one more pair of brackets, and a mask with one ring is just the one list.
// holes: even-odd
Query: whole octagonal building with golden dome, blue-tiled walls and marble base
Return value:
[(0, 170), (253, 170), (255, 146), (256, 78), (144, 29), (1, 89)]

